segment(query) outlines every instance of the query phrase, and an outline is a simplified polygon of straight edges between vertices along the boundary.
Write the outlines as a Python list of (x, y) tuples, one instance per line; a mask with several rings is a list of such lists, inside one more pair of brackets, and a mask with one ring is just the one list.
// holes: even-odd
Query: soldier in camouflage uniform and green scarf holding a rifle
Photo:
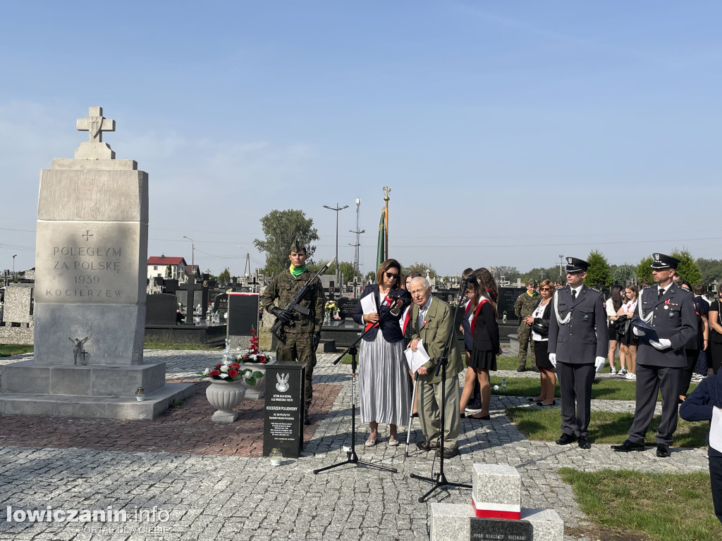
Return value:
[[(291, 266), (287, 271), (277, 274), (271, 279), (266, 291), (261, 297), (264, 310), (270, 312), (283, 322), (282, 337), (276, 351), (279, 362), (297, 361), (306, 364), (305, 379), (305, 423), (310, 424), (308, 407), (313, 397), (311, 379), (313, 367), (316, 366), (316, 347), (321, 340), (321, 322), (326, 297), (323, 296), (321, 281), (310, 284), (309, 290), (301, 299), (300, 305), (308, 308), (309, 314), (303, 315), (295, 310), (286, 310), (301, 286), (313, 277), (313, 273), (306, 269), (307, 252), (305, 246), (296, 241), (291, 245)], [(277, 304), (274, 301), (278, 299)]]

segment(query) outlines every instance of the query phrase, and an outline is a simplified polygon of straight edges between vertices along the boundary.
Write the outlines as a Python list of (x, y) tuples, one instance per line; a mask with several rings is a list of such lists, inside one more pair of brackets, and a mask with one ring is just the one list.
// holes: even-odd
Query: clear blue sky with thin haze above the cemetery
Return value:
[(24, 2), (0, 19), (0, 269), (34, 265), (40, 169), (100, 105), (150, 175), (149, 255), (218, 273), (300, 208), (316, 259), (520, 271), (720, 258), (717, 2)]

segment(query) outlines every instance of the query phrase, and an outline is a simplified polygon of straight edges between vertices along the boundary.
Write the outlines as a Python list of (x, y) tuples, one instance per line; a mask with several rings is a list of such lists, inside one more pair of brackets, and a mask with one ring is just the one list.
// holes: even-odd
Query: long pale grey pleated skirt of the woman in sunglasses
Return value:
[(380, 331), (373, 342), (361, 340), (358, 374), (362, 423), (409, 422), (412, 390), (404, 359), (404, 340), (389, 343)]

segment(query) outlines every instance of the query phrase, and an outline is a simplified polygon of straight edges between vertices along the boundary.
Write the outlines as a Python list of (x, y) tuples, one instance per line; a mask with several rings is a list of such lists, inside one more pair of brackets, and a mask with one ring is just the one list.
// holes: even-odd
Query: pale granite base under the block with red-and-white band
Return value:
[[(430, 541), (469, 539), (471, 519), (477, 519), (474, 506), (466, 503), (432, 503)], [(499, 522), (499, 519), (495, 519)], [(534, 541), (563, 541), (564, 521), (553, 509), (521, 508), (521, 520), (531, 522)], [(514, 522), (514, 521), (510, 521)], [(503, 538), (503, 537), (500, 537)]]

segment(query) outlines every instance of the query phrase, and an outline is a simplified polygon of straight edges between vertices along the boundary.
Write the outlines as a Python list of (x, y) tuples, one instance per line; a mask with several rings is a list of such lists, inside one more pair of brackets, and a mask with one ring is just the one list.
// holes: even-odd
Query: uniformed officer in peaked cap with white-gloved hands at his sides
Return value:
[(557, 445), (576, 441), (589, 449), (589, 413), (594, 374), (606, 361), (604, 297), (584, 285), (589, 263), (567, 258), (567, 286), (554, 291), (549, 320), (549, 361), (557, 369), (562, 391), (562, 436)]

